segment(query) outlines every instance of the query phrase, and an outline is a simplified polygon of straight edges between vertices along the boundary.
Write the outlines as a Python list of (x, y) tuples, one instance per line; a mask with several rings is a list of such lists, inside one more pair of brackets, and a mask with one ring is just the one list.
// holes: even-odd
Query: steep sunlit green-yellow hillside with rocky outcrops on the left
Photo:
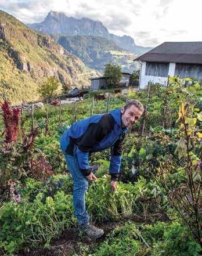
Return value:
[(89, 85), (89, 78), (98, 74), (52, 38), (0, 10), (0, 101), (37, 100), (37, 90), (49, 76), (55, 76), (61, 88), (67, 82)]

